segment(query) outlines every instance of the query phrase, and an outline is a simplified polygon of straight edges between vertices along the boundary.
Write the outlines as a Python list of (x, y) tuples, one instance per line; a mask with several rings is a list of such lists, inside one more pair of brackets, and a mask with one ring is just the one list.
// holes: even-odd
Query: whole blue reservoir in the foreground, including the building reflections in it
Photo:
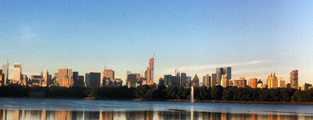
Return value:
[(0, 98), (0, 119), (313, 119), (313, 105)]

